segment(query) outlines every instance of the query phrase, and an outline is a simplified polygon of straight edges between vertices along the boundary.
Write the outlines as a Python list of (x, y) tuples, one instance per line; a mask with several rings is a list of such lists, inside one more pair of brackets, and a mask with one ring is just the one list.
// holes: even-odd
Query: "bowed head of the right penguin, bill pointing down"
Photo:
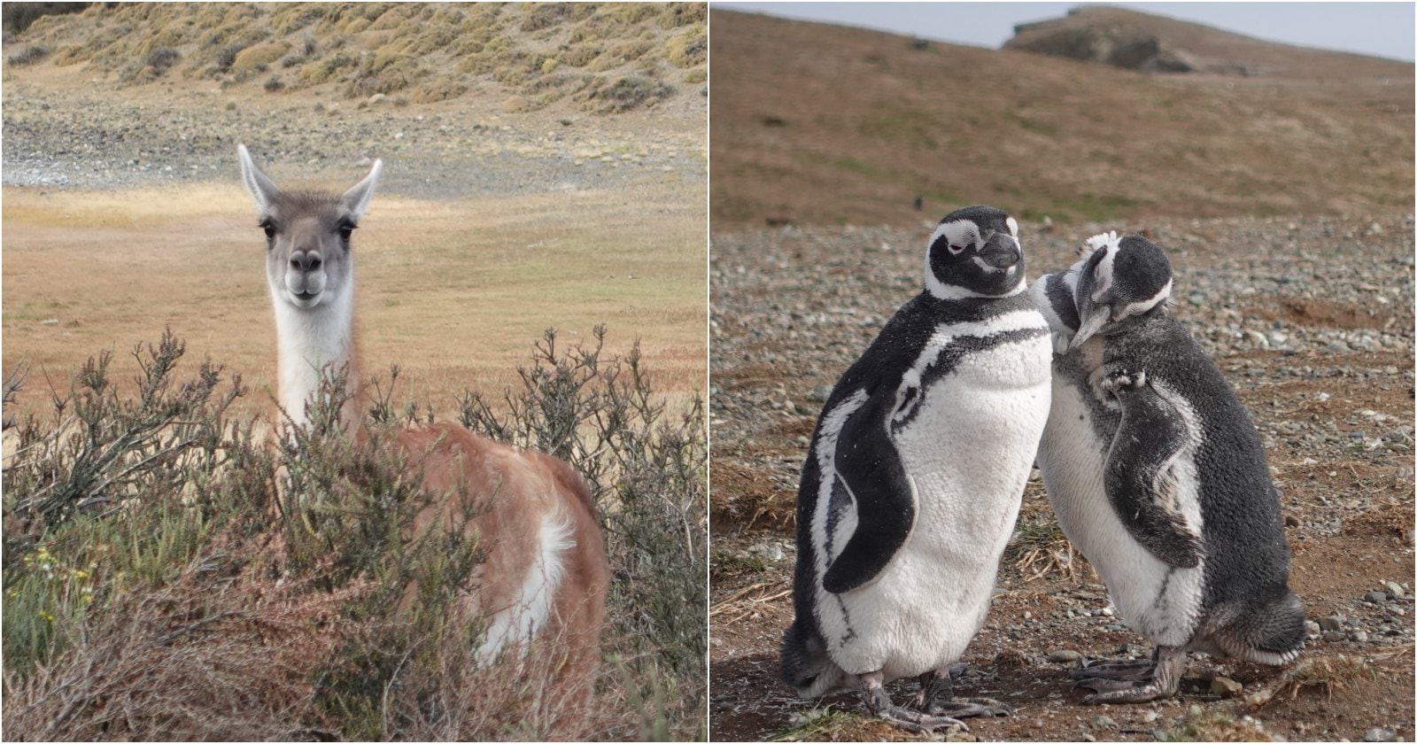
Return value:
[(1087, 251), (1073, 295), (1080, 319), (1074, 347), (1104, 326), (1165, 308), (1170, 299), (1170, 261), (1155, 242), (1108, 232), (1088, 238)]

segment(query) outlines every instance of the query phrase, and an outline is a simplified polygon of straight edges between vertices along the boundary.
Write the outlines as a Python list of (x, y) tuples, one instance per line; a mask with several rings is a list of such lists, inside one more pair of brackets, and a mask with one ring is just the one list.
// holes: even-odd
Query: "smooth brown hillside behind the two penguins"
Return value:
[[(1413, 201), (1411, 65), (1282, 47), (1308, 72), (1148, 75), (711, 16), (716, 227), (913, 224), (979, 201), (1054, 221)], [(1209, 54), (1216, 31), (1168, 24)]]

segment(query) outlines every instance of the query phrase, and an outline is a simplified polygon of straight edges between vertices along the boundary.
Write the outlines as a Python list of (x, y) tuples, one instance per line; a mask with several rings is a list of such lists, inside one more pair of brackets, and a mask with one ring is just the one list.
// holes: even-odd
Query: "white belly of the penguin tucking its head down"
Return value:
[[(1185, 645), (1200, 614), (1204, 563), (1173, 568), (1132, 539), (1102, 485), (1107, 446), (1093, 429), (1083, 393), (1054, 377), (1039, 469), (1058, 524), (1107, 584), (1127, 625), (1155, 643)], [(1199, 513), (1192, 524), (1199, 524)]]

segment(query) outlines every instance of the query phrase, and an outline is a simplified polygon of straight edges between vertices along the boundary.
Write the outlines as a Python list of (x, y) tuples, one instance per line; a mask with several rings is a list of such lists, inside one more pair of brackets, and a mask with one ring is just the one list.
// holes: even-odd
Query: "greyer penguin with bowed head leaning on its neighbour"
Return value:
[(1149, 660), (1076, 669), (1084, 703), (1176, 693), (1187, 650), (1294, 660), (1304, 605), (1264, 445), (1220, 368), (1169, 313), (1166, 252), (1141, 235), (1088, 238), (1029, 293), (1054, 330), (1043, 486), (1068, 540)]

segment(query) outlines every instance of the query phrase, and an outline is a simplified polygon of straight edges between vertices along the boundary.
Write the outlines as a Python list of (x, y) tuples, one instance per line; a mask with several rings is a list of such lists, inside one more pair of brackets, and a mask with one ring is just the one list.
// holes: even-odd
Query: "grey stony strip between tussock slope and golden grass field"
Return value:
[(572, 106), (504, 113), (469, 99), (398, 105), (383, 95), (346, 101), (214, 84), (115, 91), (72, 68), (30, 68), (6, 81), (0, 181), (230, 180), (244, 142), (262, 163), (300, 166), (312, 181), (383, 157), (388, 188), (412, 197), (615, 188), (660, 171), (701, 183), (704, 94), (686, 89), (657, 111), (619, 116)]

